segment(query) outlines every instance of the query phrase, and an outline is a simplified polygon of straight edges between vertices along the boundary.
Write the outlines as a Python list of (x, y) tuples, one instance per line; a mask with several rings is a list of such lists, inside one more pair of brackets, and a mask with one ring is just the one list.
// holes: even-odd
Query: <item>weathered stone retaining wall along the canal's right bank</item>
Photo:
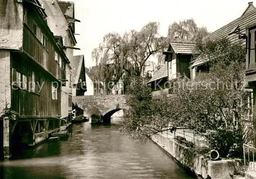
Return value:
[(152, 140), (168, 156), (199, 178), (231, 179), (242, 172), (240, 160), (211, 161), (208, 157), (198, 154), (192, 148), (185, 147), (163, 134), (154, 135)]

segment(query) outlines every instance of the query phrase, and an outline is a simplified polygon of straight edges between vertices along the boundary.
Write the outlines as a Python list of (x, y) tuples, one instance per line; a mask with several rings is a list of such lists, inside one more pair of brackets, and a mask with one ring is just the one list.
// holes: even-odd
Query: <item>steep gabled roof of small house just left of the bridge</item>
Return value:
[(77, 84), (79, 81), (79, 75), (82, 68), (82, 65), (84, 65), (83, 62), (83, 55), (74, 56), (73, 61), (71, 63), (72, 72), (73, 72), (73, 84)]

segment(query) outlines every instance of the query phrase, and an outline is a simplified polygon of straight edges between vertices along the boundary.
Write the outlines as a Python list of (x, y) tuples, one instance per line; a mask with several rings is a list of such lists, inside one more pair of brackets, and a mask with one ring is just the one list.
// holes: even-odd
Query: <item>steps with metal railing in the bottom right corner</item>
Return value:
[(254, 162), (256, 148), (244, 144), (243, 149), (244, 149), (244, 168), (247, 169), (247, 171), (245, 171), (245, 178), (256, 179), (256, 162)]

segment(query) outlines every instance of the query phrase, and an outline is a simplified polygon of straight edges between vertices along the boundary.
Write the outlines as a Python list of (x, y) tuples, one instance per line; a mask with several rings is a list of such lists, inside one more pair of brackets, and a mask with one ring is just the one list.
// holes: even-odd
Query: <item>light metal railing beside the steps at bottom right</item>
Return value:
[[(255, 166), (256, 163), (254, 163), (254, 152), (256, 152), (256, 148), (249, 146), (247, 144), (243, 144), (243, 150), (244, 150), (244, 168), (246, 169), (246, 167), (248, 166), (247, 170), (256, 170), (256, 166)], [(247, 163), (246, 156), (248, 157), (248, 163)]]

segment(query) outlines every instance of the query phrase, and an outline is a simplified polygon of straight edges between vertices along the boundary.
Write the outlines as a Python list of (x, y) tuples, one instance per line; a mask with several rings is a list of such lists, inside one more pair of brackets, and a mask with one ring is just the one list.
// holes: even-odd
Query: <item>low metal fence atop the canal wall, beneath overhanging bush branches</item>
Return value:
[(170, 130), (166, 131), (165, 135), (188, 147), (209, 148), (207, 140), (189, 127), (170, 127)]

